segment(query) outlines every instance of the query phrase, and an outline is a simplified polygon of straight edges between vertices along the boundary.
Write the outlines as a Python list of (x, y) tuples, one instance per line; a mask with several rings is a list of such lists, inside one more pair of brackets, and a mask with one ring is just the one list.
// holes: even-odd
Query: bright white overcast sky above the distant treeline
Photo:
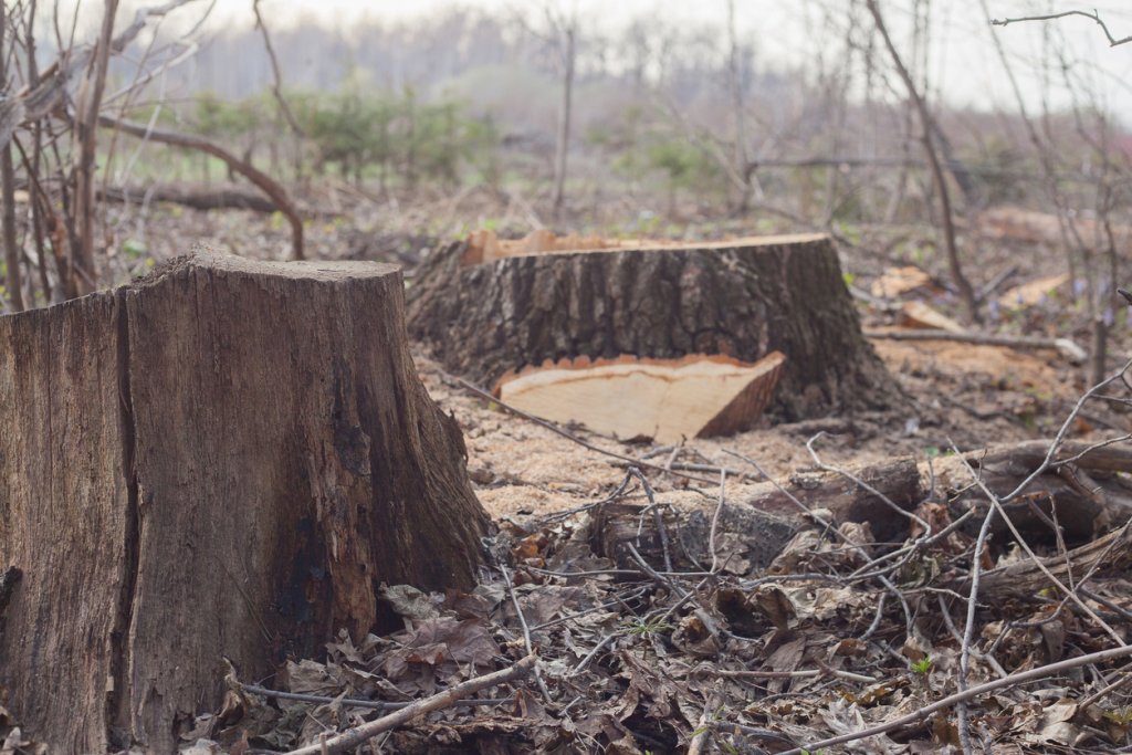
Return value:
[[(717, 25), (726, 23), (726, 0), (546, 0), (558, 8), (575, 10), (586, 27), (612, 31), (633, 18), (654, 16), (667, 24)], [(825, 5), (843, 6), (848, 0), (736, 0), (737, 25), (754, 44), (758, 66), (800, 65), (821, 51), (815, 44), (821, 31), (815, 26)], [(1091, 0), (1084, 5), (1071, 0), (986, 0), (992, 17), (1018, 17), (1036, 12), (1075, 8), (1096, 8), (1116, 37), (1132, 35), (1132, 0)], [(823, 5), (824, 3), (824, 5)], [(123, 8), (157, 5), (134, 0)], [(1029, 105), (1037, 109), (1041, 93), (1055, 105), (1065, 105), (1071, 94), (1062, 86), (1044, 89), (1041, 61), (1047, 50), (1044, 40), (1055, 34), (1064, 38), (1074, 71), (1079, 77), (1078, 94), (1088, 94), (1117, 113), (1132, 128), (1132, 43), (1109, 48), (1101, 29), (1086, 18), (1067, 18), (1053, 24), (1026, 23), (1009, 27), (992, 27), (981, 10), (980, 0), (936, 0), (933, 8), (932, 80), (944, 97), (959, 106), (990, 108), (996, 103), (1013, 108), (1013, 97), (995, 54), (990, 34), (997, 34), (1015, 62), (1015, 74), (1026, 89)], [(208, 6), (197, 0), (195, 6), (178, 11), (185, 24)], [(513, 14), (517, 9), (537, 8), (535, 0), (260, 0), (260, 8), (272, 27), (309, 23), (317, 18), (331, 26), (349, 28), (361, 18), (411, 22), (414, 17), (443, 11), (453, 6), (479, 9), (490, 14)], [(899, 33), (909, 22), (910, 0), (884, 0), (890, 25)], [(83, 0), (84, 14), (97, 14), (102, 3)], [(208, 28), (250, 28), (251, 0), (216, 0)], [(178, 19), (173, 19), (174, 24)], [(721, 34), (720, 45), (726, 37)], [(1048, 71), (1049, 69), (1047, 69)]]

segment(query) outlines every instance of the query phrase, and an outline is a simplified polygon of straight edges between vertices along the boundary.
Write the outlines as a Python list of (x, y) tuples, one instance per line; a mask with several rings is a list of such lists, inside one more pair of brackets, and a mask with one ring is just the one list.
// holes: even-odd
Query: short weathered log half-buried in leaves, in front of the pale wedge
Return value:
[[(866, 466), (854, 474), (902, 511), (912, 511), (923, 497), (919, 472), (911, 458)], [(728, 570), (746, 574), (764, 568), (800, 530), (817, 526), (790, 496), (812, 511), (824, 509), (823, 516), (835, 524), (867, 523), (876, 541), (899, 542), (908, 535), (908, 517), (843, 475), (796, 474), (781, 489), (762, 482), (723, 504), (717, 525), (720, 533), (727, 533), (727, 543), (717, 549), (717, 555), (727, 563)], [(627, 544), (657, 568), (666, 566), (666, 549), (675, 568), (703, 568), (712, 560), (707, 542), (714, 509), (715, 504), (709, 500), (702, 506), (667, 507), (662, 534), (644, 506), (609, 504), (594, 515), (591, 547), (621, 568), (636, 568)]]

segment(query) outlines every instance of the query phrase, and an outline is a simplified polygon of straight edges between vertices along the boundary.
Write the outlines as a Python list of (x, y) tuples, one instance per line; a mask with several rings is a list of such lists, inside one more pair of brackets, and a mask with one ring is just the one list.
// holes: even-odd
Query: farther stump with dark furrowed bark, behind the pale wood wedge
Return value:
[(779, 419), (883, 409), (899, 396), (860, 333), (826, 237), (559, 252), (466, 264), (430, 258), (409, 290), (410, 334), (491, 387), (508, 370), (576, 357), (787, 357)]

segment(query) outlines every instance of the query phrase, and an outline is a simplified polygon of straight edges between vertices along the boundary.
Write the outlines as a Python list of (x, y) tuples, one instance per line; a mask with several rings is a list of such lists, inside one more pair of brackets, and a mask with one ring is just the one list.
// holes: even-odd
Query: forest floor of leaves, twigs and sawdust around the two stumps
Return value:
[[(530, 230), (523, 225), (530, 213), (491, 201), (438, 199), (413, 213), (383, 207), (349, 222), (318, 221), (308, 229), (308, 249), (317, 257), (379, 259), (411, 269), (422, 254), (463, 230)], [(188, 251), (180, 246), (187, 238), (264, 258), (284, 258), (289, 247), (278, 218), (170, 207), (154, 208), (145, 218), (120, 212), (115, 237), (134, 240), (121, 244), (132, 250), (118, 258), (121, 273)], [(638, 225), (618, 230), (599, 222), (560, 230), (640, 235)], [(741, 223), (663, 230), (688, 239), (747, 234)], [(971, 223), (964, 239), (967, 248), (979, 250), (977, 286), (1017, 268), (987, 292), (1000, 306), (989, 308), (993, 321), (985, 329), (1086, 345), (1086, 318), (1072, 303), (1072, 286), (1054, 278), (1064, 261), (1040, 239), (995, 233)], [(931, 229), (852, 229), (842, 235), (851, 237), (839, 248), (847, 282), (864, 292), (859, 312), (866, 331), (907, 325), (902, 304), (909, 301), (958, 317)], [(904, 290), (884, 288), (886, 275), (891, 283), (909, 266), (927, 280)], [(1012, 290), (1035, 281), (1036, 293)], [(481, 697), (474, 705), (441, 701), (437, 712), (381, 731), (368, 739), (370, 749), (359, 752), (1132, 752), (1132, 685), (1123, 684), (1129, 672), (1118, 658), (1090, 658), (1113, 649), (1124, 657), (1120, 649), (1132, 640), (1127, 569), (1101, 568), (1123, 564), (1130, 550), (1126, 527), (1120, 526), (1127, 516), (1114, 515), (1132, 501), (1124, 495), (1126, 474), (1090, 470), (1078, 460), (1086, 480), (1100, 480), (1092, 498), (1104, 500), (1092, 509), (1061, 503), (1056, 474), (1038, 481), (1046, 480), (1044, 488), (1028, 489), (1031, 508), (1035, 500), (1049, 504), (1035, 515), (1038, 534), (1028, 544), (1050, 564), (1080, 558), (1092, 566), (1087, 574), (1062, 575), (1070, 592), (1049, 581), (1035, 585), (1030, 576), (1019, 577), (1014, 589), (996, 587), (1002, 581), (992, 577), (986, 592), (972, 597), (974, 567), (1002, 574), (1027, 556), (1001, 527), (977, 550), (987, 501), (971, 503), (977, 486), (959, 466), (976, 456), (955, 453), (1000, 448), (1010, 461), (1010, 449), (1052, 439), (1071, 413), (1069, 439), (1120, 437), (1129, 426), (1124, 406), (1110, 401), (1077, 406), (1086, 391), (1083, 368), (1053, 349), (883, 338), (872, 344), (907, 394), (903, 410), (764, 426), (666, 447), (626, 444), (584, 428), (569, 428), (574, 438), (564, 437), (469, 392), (429, 354), (417, 352), (426, 387), (464, 431), (477, 496), (500, 527), (496, 568), (470, 594), (423, 595), (391, 586), (383, 598), (404, 619), (403, 630), (360, 643), (343, 636), (328, 646), (328, 659), (289, 663), (281, 676), (281, 688), (323, 695), (325, 702), (243, 689), (230, 701), (240, 715), (230, 710), (201, 717), (185, 732), (183, 752), (217, 752), (206, 739), (232, 752), (333, 741), (333, 732), (372, 726), (378, 715), (343, 696), (418, 700), (496, 669), (516, 669), (531, 652), (540, 661), (528, 681), (473, 694)], [(1117, 333), (1114, 370), (1129, 346), (1126, 334)], [(1112, 393), (1124, 396), (1122, 391), (1125, 385), (1113, 385)], [(654, 466), (642, 466), (637, 475), (626, 458)], [(867, 477), (894, 469), (901, 458), (919, 475), (920, 499), (900, 501), (903, 514), (889, 513), (911, 522), (890, 542), (874, 541), (860, 522), (835, 527), (815, 513), (766, 564), (753, 548), (745, 550), (743, 532), (728, 530), (734, 520), (720, 517), (724, 505), (741, 507), (765, 495), (766, 477), (799, 491), (807, 488), (807, 475)], [(1036, 463), (1022, 466), (1003, 473), (1005, 490)], [(1070, 469), (1058, 473), (1064, 478)], [(611, 537), (601, 531), (612, 516), (602, 514), (607, 506), (635, 506), (638, 530), (646, 520), (650, 526), (655, 522), (654, 549), (667, 527), (691, 521), (688, 512), (702, 511), (711, 532), (694, 552), (685, 547), (684, 556), (664, 544), (670, 567), (634, 563), (635, 555), (626, 561), (624, 550), (615, 555), (601, 547)], [(1058, 516), (1092, 518), (1053, 526)], [(1050, 526), (1041, 531), (1041, 522)], [(927, 531), (917, 526), (925, 523)], [(1070, 530), (1075, 534), (1065, 534)], [(1099, 560), (1073, 550), (1109, 532), (1114, 539), (1105, 541)], [(683, 535), (670, 537), (675, 549)], [(640, 538), (637, 546), (644, 549)], [(526, 671), (524, 664), (515, 674)], [(1024, 672), (1035, 679), (1011, 680)], [(929, 709), (1002, 679), (1007, 681), (984, 694), (976, 689), (938, 711)], [(868, 728), (875, 728), (872, 736), (854, 738)], [(823, 744), (841, 735), (846, 741)]]

